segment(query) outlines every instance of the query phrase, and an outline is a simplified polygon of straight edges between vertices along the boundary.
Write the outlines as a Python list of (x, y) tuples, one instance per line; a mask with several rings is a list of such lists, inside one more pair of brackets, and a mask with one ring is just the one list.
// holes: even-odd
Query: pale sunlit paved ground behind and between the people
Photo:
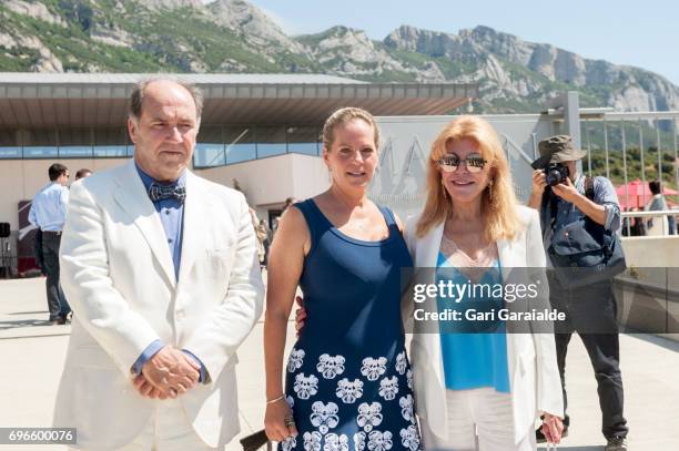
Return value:
[[(48, 427), (61, 376), (69, 326), (48, 326), (44, 279), (0, 280), (0, 427)], [(260, 321), (240, 355), (239, 394), (243, 433), (262, 427), (264, 359)], [(292, 336), (292, 327), (291, 327)], [(647, 335), (621, 340), (626, 417), (631, 450), (679, 449), (679, 344)], [(288, 340), (288, 346), (292, 342)], [(570, 437), (560, 450), (602, 450), (601, 417), (596, 383), (580, 340), (568, 356), (571, 400)], [(19, 450), (60, 450), (63, 447), (17, 447)], [(240, 447), (234, 441), (229, 450)], [(11, 449), (0, 445), (0, 450)]]

